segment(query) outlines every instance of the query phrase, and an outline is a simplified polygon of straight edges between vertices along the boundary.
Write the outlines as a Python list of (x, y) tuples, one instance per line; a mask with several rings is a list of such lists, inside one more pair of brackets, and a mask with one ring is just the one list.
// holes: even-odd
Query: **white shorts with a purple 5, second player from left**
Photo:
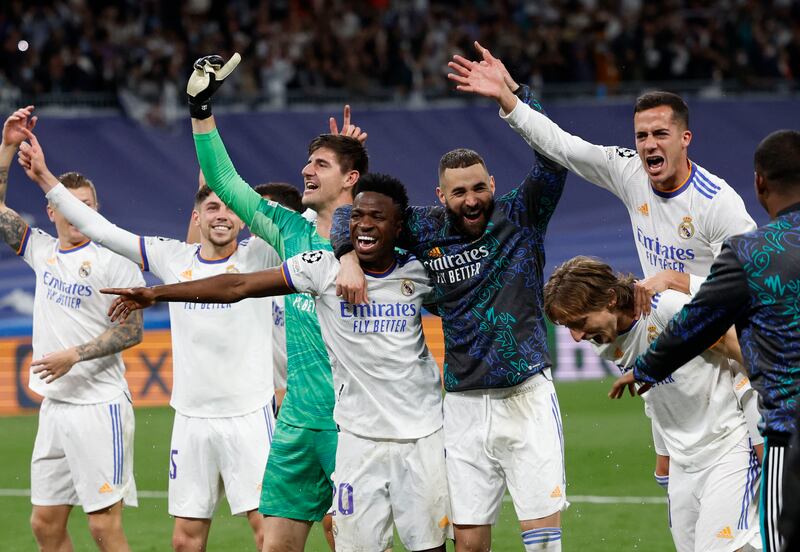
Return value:
[(175, 413), (169, 458), (169, 513), (211, 519), (221, 493), (233, 515), (258, 509), (272, 443), (272, 405), (244, 416)]

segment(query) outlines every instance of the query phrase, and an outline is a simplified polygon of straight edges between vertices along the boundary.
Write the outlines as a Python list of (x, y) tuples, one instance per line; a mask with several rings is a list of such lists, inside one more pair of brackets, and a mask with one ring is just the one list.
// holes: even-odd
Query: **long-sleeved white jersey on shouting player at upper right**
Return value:
[(695, 163), (685, 182), (661, 192), (651, 186), (634, 150), (590, 144), (522, 102), (504, 118), (536, 151), (622, 200), (645, 277), (668, 269), (686, 272), (696, 276), (695, 292), (722, 242), (756, 228), (739, 194)]

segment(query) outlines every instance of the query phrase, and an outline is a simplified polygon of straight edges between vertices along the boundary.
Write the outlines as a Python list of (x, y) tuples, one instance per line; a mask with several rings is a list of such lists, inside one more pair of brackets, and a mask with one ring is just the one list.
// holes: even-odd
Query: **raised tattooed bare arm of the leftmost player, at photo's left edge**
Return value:
[(19, 145), (27, 137), (25, 131), (36, 126), (36, 117), (32, 114), (32, 105), (12, 113), (3, 124), (3, 140), (0, 143), (0, 239), (17, 253), (22, 246), (28, 224), (16, 211), (6, 206), (8, 171)]

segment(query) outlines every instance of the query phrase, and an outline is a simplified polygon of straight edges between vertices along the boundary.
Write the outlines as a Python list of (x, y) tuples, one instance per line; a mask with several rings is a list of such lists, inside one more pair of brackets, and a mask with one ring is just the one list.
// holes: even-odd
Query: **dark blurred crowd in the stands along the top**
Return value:
[[(191, 60), (239, 51), (231, 97), (275, 106), (453, 94), (454, 53), (480, 40), (537, 89), (626, 83), (796, 89), (797, 0), (6, 0), (3, 95), (113, 94), (177, 103)], [(571, 83), (571, 84), (570, 84)], [(569, 86), (561, 87), (569, 90)]]

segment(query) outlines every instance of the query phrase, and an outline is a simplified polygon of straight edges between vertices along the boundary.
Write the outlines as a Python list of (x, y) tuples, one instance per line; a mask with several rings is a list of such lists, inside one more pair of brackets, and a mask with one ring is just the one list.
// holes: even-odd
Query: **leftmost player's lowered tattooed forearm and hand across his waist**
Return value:
[(142, 313), (135, 312), (125, 324), (115, 324), (83, 345), (45, 355), (32, 362), (31, 368), (45, 383), (52, 383), (78, 362), (113, 355), (141, 343), (142, 334)]

